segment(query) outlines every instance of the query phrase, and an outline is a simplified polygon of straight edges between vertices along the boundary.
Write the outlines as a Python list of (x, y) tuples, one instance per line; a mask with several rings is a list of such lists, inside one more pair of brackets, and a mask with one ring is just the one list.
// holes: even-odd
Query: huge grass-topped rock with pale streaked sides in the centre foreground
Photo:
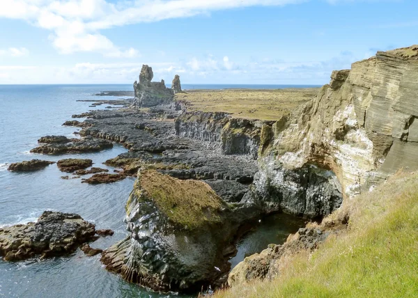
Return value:
[(254, 216), (233, 213), (204, 182), (153, 170), (139, 171), (126, 208), (130, 236), (104, 251), (102, 262), (127, 281), (164, 292), (214, 285), (229, 271), (239, 224)]

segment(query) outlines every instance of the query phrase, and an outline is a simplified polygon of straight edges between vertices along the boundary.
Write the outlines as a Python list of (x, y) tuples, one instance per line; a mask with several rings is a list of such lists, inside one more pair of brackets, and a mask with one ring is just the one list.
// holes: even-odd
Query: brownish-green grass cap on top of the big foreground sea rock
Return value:
[(194, 230), (219, 224), (228, 208), (205, 182), (178, 180), (155, 170), (144, 170), (135, 184), (139, 200), (154, 201), (178, 228)]

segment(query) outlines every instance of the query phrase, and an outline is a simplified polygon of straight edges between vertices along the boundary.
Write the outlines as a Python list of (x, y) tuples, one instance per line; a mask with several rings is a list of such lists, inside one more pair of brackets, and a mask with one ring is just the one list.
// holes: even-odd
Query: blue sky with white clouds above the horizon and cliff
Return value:
[(0, 0), (0, 84), (314, 84), (418, 44), (417, 0)]

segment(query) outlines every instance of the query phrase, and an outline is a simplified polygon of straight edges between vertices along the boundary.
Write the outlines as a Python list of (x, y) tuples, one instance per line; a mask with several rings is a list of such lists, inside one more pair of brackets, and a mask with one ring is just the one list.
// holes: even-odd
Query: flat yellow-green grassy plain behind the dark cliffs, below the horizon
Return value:
[(177, 93), (175, 100), (187, 102), (187, 111), (219, 111), (235, 118), (279, 120), (318, 91), (319, 88), (197, 90)]

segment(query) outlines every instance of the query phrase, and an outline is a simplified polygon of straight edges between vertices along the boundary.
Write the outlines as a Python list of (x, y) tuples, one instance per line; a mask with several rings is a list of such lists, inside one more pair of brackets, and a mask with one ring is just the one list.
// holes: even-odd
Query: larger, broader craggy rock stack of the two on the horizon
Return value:
[(165, 86), (164, 80), (152, 81), (153, 68), (142, 65), (139, 74), (139, 83), (134, 82), (134, 106), (155, 107), (157, 105), (170, 105), (173, 101), (174, 92)]

